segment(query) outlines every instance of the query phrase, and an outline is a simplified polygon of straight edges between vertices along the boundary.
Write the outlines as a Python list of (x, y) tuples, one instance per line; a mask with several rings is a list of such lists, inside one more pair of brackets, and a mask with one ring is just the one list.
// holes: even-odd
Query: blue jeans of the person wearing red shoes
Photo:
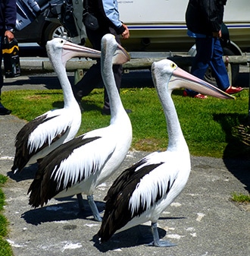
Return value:
[[(220, 40), (216, 37), (195, 38), (196, 55), (191, 68), (191, 74), (195, 77), (204, 79), (208, 65), (211, 67), (220, 90), (227, 90), (230, 87), (230, 81), (227, 69), (223, 62), (223, 49), (220, 46)], [(195, 96), (196, 92), (187, 90), (187, 92)]]

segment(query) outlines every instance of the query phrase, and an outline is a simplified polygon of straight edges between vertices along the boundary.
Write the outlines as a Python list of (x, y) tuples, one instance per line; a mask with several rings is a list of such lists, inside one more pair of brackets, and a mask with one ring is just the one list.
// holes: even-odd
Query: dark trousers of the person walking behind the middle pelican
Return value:
[[(103, 30), (103, 29), (89, 30), (86, 28), (86, 33), (90, 43), (92, 43), (93, 49), (96, 49), (99, 51), (101, 50), (102, 36), (104, 36), (106, 33), (114, 34), (117, 40), (117, 43), (120, 43), (120, 37), (112, 28), (109, 28), (109, 30)], [(114, 72), (114, 80), (116, 82), (117, 89), (119, 91), (120, 83), (121, 83), (121, 75), (123, 72), (122, 65), (113, 65), (113, 72)], [(86, 72), (86, 74), (83, 76), (83, 79), (73, 87), (73, 91), (77, 100), (80, 100), (83, 96), (89, 95), (89, 93), (93, 89), (95, 89), (95, 87), (100, 82), (102, 82), (101, 61), (100, 59), (98, 59), (97, 63), (95, 65), (92, 65), (91, 68), (89, 68), (89, 71)], [(104, 93), (104, 108), (109, 109), (109, 99), (108, 99), (108, 93), (106, 91), (106, 88)]]

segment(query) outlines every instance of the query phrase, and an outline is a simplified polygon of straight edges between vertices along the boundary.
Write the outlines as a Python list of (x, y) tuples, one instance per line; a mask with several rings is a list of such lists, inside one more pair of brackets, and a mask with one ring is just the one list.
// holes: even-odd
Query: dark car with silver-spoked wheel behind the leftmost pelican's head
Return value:
[[(60, 16), (70, 17), (68, 13), (71, 14), (71, 12), (67, 8), (69, 1), (67, 0), (67, 4), (65, 4), (64, 0), (17, 0), (15, 34), (17, 41), (19, 43), (38, 43), (39, 46), (45, 47), (46, 42), (55, 37), (68, 39), (70, 33), (72, 36), (72, 27), (69, 27), (72, 30), (70, 33), (65, 29), (67, 20), (59, 19)], [(64, 15), (62, 15), (63, 11)]]

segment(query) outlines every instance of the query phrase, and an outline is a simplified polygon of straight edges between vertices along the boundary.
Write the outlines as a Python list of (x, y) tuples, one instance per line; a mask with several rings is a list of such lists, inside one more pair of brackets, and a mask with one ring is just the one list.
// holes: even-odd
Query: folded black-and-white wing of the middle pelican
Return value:
[[(101, 171), (115, 147), (102, 150), (102, 137), (76, 137), (39, 160), (39, 170), (30, 185), (30, 204), (46, 204), (56, 194), (84, 182)], [(93, 150), (95, 147), (95, 150)], [(74, 193), (73, 193), (74, 194)]]

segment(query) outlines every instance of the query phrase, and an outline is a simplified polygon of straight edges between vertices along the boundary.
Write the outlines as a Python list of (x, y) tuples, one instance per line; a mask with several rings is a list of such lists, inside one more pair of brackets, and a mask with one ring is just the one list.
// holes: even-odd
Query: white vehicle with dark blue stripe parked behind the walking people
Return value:
[[(194, 40), (186, 35), (188, 0), (118, 0), (120, 20), (130, 28), (129, 51), (188, 51)], [(224, 23), (236, 44), (236, 55), (250, 51), (250, 2), (228, 0)]]

